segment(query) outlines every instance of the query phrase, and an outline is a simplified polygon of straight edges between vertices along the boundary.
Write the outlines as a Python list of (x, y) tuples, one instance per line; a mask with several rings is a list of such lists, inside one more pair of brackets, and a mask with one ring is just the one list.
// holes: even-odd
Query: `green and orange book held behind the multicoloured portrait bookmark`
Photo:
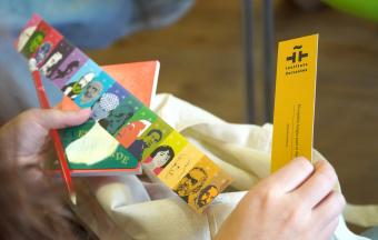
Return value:
[[(141, 102), (146, 106), (150, 106), (151, 99), (156, 94), (160, 68), (159, 61), (112, 64), (102, 68), (111, 77), (117, 79), (123, 88), (130, 90), (130, 92), (140, 99)], [(79, 109), (79, 107), (67, 96), (63, 97), (63, 100), (58, 108), (62, 110)], [(140, 124), (130, 126), (129, 128), (138, 131)], [(130, 157), (128, 151), (117, 141), (108, 139), (107, 137), (102, 138), (99, 130), (101, 131), (101, 129), (98, 129), (94, 126), (94, 121), (88, 121), (81, 126), (59, 131), (68, 157), (71, 174), (106, 176), (117, 173), (140, 173), (140, 163), (138, 163), (135, 158)], [(76, 146), (69, 148), (74, 141), (77, 141)], [(69, 156), (73, 156), (71, 160)], [(82, 159), (81, 156), (87, 156), (88, 159)], [(58, 162), (54, 162), (52, 168), (56, 169), (57, 167)]]

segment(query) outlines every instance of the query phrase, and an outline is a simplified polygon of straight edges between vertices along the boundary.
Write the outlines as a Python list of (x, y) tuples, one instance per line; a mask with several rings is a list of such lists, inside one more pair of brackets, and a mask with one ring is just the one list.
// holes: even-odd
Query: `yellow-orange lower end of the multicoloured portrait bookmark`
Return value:
[(232, 181), (230, 176), (191, 143), (157, 177), (199, 213)]

